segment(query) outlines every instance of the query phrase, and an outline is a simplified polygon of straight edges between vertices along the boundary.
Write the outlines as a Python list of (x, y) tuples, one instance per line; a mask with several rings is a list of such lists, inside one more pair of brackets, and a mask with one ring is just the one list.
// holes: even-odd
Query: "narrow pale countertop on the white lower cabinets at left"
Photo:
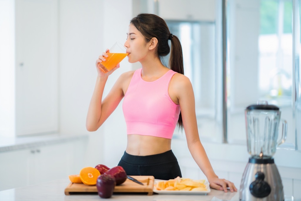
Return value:
[(88, 135), (62, 135), (56, 133), (26, 137), (0, 137), (0, 152), (64, 143), (79, 139), (88, 139)]

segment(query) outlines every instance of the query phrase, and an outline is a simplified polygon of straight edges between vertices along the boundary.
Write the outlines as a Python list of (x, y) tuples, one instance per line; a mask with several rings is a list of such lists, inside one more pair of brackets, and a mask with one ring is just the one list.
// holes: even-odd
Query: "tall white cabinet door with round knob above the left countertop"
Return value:
[(58, 1), (15, 1), (16, 135), (58, 130)]

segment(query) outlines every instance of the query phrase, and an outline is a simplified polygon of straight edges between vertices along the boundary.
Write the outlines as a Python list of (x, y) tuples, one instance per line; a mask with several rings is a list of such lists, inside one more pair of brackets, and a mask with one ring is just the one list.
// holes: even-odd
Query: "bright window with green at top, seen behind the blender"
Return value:
[(291, 105), (291, 1), (261, 1), (258, 44), (260, 96), (279, 106)]

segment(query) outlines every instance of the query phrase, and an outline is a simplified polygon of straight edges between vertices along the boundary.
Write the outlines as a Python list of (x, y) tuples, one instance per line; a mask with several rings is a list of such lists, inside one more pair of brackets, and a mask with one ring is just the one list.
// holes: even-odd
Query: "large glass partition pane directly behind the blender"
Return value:
[(296, 148), (292, 13), (291, 0), (227, 2), (228, 143), (246, 143), (244, 109), (266, 100), (288, 122), (282, 147)]

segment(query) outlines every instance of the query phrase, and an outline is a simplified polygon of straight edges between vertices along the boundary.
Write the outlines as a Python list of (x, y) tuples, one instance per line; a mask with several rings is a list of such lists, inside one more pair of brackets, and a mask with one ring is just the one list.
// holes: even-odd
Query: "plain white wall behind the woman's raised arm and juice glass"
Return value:
[[(118, 6), (116, 6), (118, 5)], [(95, 61), (114, 42), (125, 42), (132, 1), (60, 1), (60, 133), (88, 133), (85, 165), (116, 166), (126, 146), (126, 127), (120, 107), (95, 132), (85, 120), (96, 81)], [(131, 69), (126, 61), (110, 75), (104, 96), (119, 75)]]

